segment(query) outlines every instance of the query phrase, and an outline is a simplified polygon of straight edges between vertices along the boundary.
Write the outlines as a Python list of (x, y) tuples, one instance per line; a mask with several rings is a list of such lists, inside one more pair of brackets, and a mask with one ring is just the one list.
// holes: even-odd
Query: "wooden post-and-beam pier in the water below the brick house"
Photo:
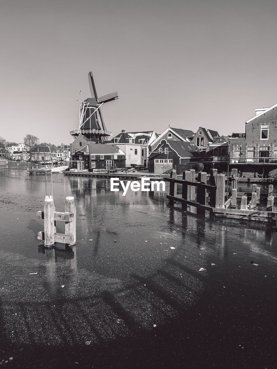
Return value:
[[(184, 210), (187, 210), (187, 206), (193, 206), (197, 213), (209, 211), (217, 217), (270, 222), (276, 226), (273, 185), (269, 185), (267, 194), (261, 193), (256, 184), (253, 184), (251, 193), (237, 193), (237, 169), (232, 169), (232, 172), (231, 196), (228, 184), (226, 188), (225, 175), (217, 174), (217, 169), (211, 169), (210, 184), (207, 184), (207, 173), (204, 172), (198, 173), (198, 180), (195, 181), (194, 169), (183, 172), (182, 180), (172, 176), (168, 179), (169, 204), (173, 206), (174, 202), (178, 202)], [(177, 184), (182, 185), (181, 197), (177, 195)], [(266, 211), (259, 210), (261, 199), (267, 200)]]

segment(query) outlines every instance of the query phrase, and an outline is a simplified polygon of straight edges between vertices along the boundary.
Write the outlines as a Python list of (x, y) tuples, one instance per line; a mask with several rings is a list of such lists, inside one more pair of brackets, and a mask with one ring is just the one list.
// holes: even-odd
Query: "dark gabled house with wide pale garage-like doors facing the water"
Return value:
[(150, 173), (170, 173), (174, 168), (179, 174), (183, 170), (195, 168), (191, 158), (199, 156), (200, 151), (191, 141), (161, 139), (148, 156)]

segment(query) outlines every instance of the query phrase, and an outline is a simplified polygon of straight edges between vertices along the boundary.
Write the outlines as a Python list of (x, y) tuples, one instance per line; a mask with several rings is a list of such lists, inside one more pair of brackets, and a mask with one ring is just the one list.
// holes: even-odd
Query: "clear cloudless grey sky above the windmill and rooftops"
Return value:
[(277, 103), (274, 0), (6, 0), (0, 18), (8, 141), (72, 142), (90, 70), (98, 96), (119, 94), (102, 107), (114, 135), (244, 132)]

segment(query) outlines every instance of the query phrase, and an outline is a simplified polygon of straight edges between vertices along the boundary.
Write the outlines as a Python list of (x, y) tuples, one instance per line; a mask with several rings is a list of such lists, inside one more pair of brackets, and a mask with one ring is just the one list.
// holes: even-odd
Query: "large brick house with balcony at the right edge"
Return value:
[(245, 122), (245, 133), (229, 138), (229, 168), (243, 177), (267, 177), (277, 169), (277, 104), (255, 109)]

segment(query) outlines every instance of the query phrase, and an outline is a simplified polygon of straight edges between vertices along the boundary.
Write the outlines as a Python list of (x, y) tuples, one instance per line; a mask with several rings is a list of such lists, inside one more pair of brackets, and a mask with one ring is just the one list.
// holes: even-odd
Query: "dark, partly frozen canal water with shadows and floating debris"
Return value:
[[(37, 239), (51, 193), (56, 211), (75, 198), (69, 250)], [(4, 367), (276, 368), (266, 223), (169, 208), (166, 192), (122, 196), (109, 179), (54, 173), (51, 186), (51, 175), (0, 167), (0, 236)]]

